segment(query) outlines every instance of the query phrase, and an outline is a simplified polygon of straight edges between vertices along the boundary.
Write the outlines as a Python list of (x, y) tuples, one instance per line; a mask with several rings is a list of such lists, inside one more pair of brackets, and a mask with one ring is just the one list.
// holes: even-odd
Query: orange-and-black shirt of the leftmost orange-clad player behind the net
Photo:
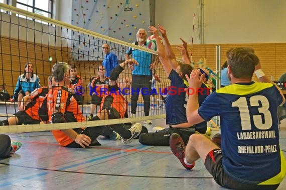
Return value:
[(42, 120), (39, 115), (39, 108), (42, 106), (43, 101), (46, 99), (49, 88), (44, 86), (36, 88), (31, 92), (31, 102), (25, 106), (25, 112), (33, 119)]

